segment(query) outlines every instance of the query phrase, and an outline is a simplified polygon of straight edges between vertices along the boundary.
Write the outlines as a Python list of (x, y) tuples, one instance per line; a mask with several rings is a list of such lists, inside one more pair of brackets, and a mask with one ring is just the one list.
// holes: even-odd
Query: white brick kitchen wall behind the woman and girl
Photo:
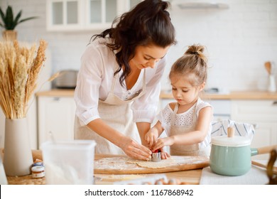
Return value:
[[(277, 63), (277, 0), (215, 1), (228, 4), (227, 10), (181, 10), (175, 5), (178, 0), (171, 2), (170, 13), (178, 44), (168, 52), (169, 63), (162, 81), (163, 88), (169, 88), (167, 75), (170, 65), (188, 45), (201, 43), (207, 46), (210, 58), (207, 87), (266, 90), (264, 63), (268, 60)], [(48, 41), (53, 72), (80, 67), (85, 46), (97, 31), (47, 32), (44, 0), (0, 0), (1, 7), (6, 8), (7, 4), (15, 11), (22, 9), (23, 18), (40, 17), (19, 24), (16, 28), (18, 39), (32, 42), (44, 38)]]

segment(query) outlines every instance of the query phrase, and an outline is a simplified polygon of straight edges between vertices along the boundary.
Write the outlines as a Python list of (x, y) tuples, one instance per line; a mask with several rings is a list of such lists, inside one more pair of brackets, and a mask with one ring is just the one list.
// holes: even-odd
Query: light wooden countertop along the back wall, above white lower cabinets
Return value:
[[(37, 92), (36, 96), (45, 97), (73, 97), (74, 90), (72, 89), (53, 89), (43, 92)], [(266, 91), (232, 91), (228, 94), (212, 94), (212, 93), (202, 93), (202, 99), (277, 99), (277, 92), (266, 92)], [(171, 92), (161, 92), (161, 99), (173, 99)]]

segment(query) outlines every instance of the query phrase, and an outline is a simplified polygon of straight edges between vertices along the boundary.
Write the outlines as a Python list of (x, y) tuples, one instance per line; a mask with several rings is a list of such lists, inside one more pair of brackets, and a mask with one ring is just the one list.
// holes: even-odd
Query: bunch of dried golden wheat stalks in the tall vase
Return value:
[(36, 53), (36, 44), (26, 48), (18, 41), (0, 41), (0, 106), (6, 118), (26, 117), (46, 47), (47, 43), (40, 40)]

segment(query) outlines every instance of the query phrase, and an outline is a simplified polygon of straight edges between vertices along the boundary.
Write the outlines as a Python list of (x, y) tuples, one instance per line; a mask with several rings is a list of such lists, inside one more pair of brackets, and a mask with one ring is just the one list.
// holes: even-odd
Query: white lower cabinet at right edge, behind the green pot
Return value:
[[(255, 134), (252, 148), (277, 144), (277, 101), (276, 100), (232, 100), (232, 119), (254, 124)], [(254, 159), (268, 155), (254, 156)]]

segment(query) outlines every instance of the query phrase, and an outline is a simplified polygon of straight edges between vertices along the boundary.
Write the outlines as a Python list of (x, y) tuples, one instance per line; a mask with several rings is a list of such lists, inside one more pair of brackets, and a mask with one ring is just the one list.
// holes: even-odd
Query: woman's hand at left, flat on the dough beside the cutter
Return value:
[(146, 146), (143, 146), (128, 136), (125, 136), (124, 139), (121, 140), (121, 146), (119, 146), (127, 156), (131, 158), (150, 161), (151, 160), (151, 150)]

